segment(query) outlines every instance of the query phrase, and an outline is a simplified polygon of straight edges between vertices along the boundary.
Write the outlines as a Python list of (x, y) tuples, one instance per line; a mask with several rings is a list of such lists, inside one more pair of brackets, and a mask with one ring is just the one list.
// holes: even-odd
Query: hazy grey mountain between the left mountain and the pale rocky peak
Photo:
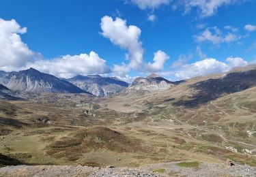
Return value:
[(68, 79), (68, 82), (98, 97), (109, 96), (128, 87), (128, 83), (118, 78), (104, 78), (99, 75), (78, 75)]

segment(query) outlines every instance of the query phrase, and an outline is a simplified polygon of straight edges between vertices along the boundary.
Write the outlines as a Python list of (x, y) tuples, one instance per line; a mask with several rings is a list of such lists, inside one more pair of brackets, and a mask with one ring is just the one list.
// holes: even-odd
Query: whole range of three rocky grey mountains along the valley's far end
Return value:
[(20, 93), (87, 93), (105, 97), (121, 91), (128, 93), (132, 91), (165, 91), (177, 82), (171, 82), (156, 74), (151, 74), (147, 78), (135, 79), (129, 86), (127, 82), (115, 77), (78, 75), (74, 78), (64, 79), (30, 68), (23, 71), (0, 71), (0, 84), (5, 87), (5, 93), (8, 89)]

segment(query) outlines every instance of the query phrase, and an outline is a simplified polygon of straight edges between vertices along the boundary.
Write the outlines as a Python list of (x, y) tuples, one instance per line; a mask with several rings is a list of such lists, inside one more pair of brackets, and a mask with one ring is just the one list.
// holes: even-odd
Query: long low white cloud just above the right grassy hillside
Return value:
[(183, 65), (175, 72), (175, 77), (178, 79), (188, 79), (197, 76), (223, 73), (231, 70), (233, 67), (244, 67), (248, 65), (244, 59), (239, 57), (229, 57), (226, 61), (227, 63), (209, 58), (190, 65)]

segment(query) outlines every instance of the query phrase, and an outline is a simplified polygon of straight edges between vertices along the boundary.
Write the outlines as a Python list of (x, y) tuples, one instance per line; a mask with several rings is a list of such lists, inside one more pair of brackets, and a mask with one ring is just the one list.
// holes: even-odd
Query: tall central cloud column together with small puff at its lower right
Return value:
[[(165, 52), (159, 50), (155, 53), (154, 63), (144, 63), (142, 48), (142, 42), (140, 39), (141, 29), (134, 25), (126, 25), (126, 20), (121, 18), (111, 18), (110, 16), (104, 16), (101, 19), (100, 27), (102, 29), (102, 35), (110, 41), (128, 50), (126, 58), (130, 60), (130, 63), (122, 63), (122, 65), (114, 65), (113, 72), (125, 76), (130, 69), (137, 71), (160, 71), (163, 69), (165, 61), (169, 59)], [(145, 66), (145, 67), (143, 67)]]

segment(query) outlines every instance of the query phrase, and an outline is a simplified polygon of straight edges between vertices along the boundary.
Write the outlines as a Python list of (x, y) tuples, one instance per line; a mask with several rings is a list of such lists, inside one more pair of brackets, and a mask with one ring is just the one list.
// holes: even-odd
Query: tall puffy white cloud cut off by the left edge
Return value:
[(15, 20), (0, 18), (0, 69), (16, 70), (33, 61), (37, 55), (30, 50), (20, 37), (27, 29), (20, 27)]

